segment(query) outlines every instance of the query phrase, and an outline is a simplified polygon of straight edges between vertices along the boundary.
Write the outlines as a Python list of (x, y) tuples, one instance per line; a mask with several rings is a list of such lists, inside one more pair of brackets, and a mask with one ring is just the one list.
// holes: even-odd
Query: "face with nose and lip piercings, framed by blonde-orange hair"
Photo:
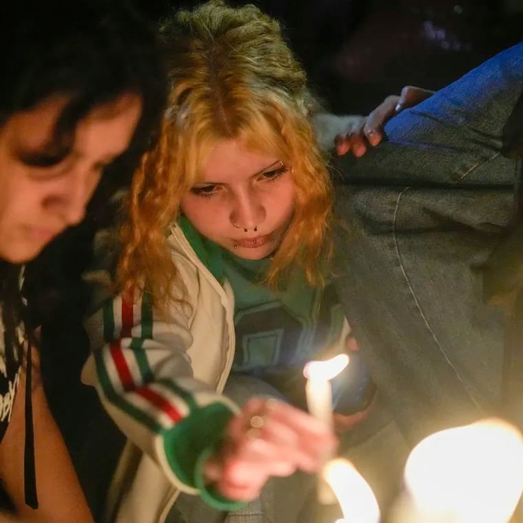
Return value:
[(246, 259), (261, 259), (277, 249), (294, 206), (288, 167), (239, 140), (217, 143), (202, 182), (182, 198), (182, 212), (200, 234)]

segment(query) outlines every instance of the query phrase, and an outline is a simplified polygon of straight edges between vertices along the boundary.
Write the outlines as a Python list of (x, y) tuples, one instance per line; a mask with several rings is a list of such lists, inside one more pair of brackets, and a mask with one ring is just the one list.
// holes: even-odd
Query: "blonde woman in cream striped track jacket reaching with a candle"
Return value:
[[(279, 505), (239, 503), (270, 476), (317, 471), (336, 445), (291, 406), (306, 407), (306, 361), (354, 348), (329, 285), (332, 187), (311, 125), (317, 105), (279, 24), (254, 6), (180, 12), (162, 40), (169, 109), (127, 200), (120, 294), (100, 296), (88, 325), (84, 376), (129, 440), (108, 517), (303, 522), (299, 480), (295, 496), (292, 483), (273, 491)], [(363, 365), (352, 372), (353, 388), (337, 390), (345, 428), (372, 396)], [(262, 397), (239, 408), (226, 385), (240, 404)], [(175, 516), (179, 491), (215, 511), (182, 497)]]

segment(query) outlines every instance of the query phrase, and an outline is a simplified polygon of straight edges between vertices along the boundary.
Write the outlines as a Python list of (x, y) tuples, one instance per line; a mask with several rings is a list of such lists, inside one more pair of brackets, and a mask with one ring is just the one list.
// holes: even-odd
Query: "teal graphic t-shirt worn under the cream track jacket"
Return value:
[(305, 407), (303, 366), (333, 346), (335, 354), (345, 350), (345, 318), (333, 286), (312, 288), (295, 275), (288, 288), (273, 292), (259, 283), (270, 259), (242, 259), (227, 250), (222, 255), (235, 295), (233, 372), (266, 381)]

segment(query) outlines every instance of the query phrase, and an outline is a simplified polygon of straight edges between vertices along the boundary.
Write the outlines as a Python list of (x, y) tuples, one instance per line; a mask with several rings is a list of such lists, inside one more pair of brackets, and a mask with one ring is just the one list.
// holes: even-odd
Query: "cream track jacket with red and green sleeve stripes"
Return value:
[[(168, 242), (186, 290), (185, 304), (173, 303), (169, 317), (160, 319), (145, 300), (131, 309), (121, 297), (111, 299), (102, 285), (96, 292), (99, 309), (86, 323), (93, 354), (82, 380), (96, 387), (111, 418), (129, 436), (108, 493), (110, 522), (163, 522), (180, 490), (198, 492), (174, 473), (162, 436), (177, 423), (166, 410), (175, 409), (181, 420), (191, 402), (162, 380), (182, 387), (198, 407), (218, 402), (237, 411), (220, 395), (235, 350), (233, 290), (227, 282), (220, 286), (179, 226), (171, 227)], [(100, 283), (103, 278), (99, 273), (90, 279)], [(148, 375), (140, 370), (140, 357)]]

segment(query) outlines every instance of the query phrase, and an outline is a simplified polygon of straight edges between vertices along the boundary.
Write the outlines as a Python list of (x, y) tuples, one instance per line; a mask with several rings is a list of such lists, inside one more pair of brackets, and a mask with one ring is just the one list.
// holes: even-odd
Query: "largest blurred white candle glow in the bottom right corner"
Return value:
[(441, 521), (506, 523), (523, 491), (522, 434), (497, 419), (432, 434), (409, 456), (405, 482)]

